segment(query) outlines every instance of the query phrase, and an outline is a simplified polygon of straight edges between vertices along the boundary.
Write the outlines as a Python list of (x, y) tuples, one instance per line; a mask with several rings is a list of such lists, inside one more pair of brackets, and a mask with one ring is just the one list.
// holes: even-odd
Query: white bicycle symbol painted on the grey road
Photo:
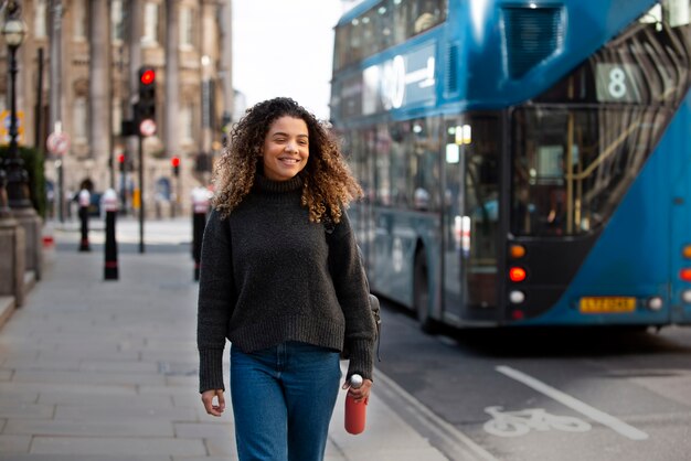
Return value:
[(485, 412), (492, 419), (485, 422), (483, 429), (499, 437), (520, 437), (531, 429), (545, 431), (550, 429), (566, 432), (585, 432), (591, 425), (573, 416), (550, 415), (544, 408), (527, 408), (518, 411), (502, 411), (502, 407), (487, 407)]

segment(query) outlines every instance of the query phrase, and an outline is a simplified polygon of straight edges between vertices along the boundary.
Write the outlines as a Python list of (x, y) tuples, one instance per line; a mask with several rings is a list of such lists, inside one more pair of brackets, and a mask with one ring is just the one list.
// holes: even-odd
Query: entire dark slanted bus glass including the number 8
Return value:
[(689, 85), (684, 28), (649, 15), (512, 111), (513, 235), (597, 229), (641, 171)]

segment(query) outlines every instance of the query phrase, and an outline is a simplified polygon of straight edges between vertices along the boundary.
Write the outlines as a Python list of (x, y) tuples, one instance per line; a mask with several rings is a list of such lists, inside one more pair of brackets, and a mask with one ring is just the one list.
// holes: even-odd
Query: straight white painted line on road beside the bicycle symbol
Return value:
[(646, 440), (648, 438), (648, 435), (646, 432), (638, 430), (635, 427), (621, 421), (620, 419), (617, 419), (612, 415), (598, 410), (597, 408), (593, 408), (589, 405), (578, 400), (577, 398), (572, 397), (568, 394), (563, 393), (559, 389), (555, 389), (554, 387), (549, 386), (522, 372), (519, 372), (518, 369), (504, 365), (497, 366), (496, 369), (497, 372), (520, 383), (523, 383), (528, 387), (532, 387), (533, 389), (546, 395), (548, 397), (553, 398), (554, 400), (567, 406), (568, 408), (587, 416), (592, 420), (597, 421), (603, 426), (609, 427), (610, 429), (619, 432), (624, 437), (627, 437), (631, 440)]

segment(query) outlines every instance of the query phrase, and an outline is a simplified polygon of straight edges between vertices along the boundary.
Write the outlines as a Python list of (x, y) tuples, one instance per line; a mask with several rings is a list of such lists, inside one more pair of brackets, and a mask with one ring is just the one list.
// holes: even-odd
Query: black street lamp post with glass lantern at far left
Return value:
[(17, 50), (24, 41), (26, 26), (19, 18), (19, 7), (11, 2), (8, 6), (8, 19), (2, 25), (4, 43), (10, 49), (10, 146), (8, 158), (4, 162), (7, 172), (7, 194), (11, 208), (25, 208), (31, 206), (29, 201), (29, 175), (24, 170), (24, 161), (19, 156), (17, 136)]

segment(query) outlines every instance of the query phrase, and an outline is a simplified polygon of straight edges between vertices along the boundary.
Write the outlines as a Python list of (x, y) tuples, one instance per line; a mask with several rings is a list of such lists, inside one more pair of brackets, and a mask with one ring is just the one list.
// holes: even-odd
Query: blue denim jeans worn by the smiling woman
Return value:
[(286, 342), (231, 346), (231, 398), (241, 461), (321, 461), (339, 392), (339, 353)]

